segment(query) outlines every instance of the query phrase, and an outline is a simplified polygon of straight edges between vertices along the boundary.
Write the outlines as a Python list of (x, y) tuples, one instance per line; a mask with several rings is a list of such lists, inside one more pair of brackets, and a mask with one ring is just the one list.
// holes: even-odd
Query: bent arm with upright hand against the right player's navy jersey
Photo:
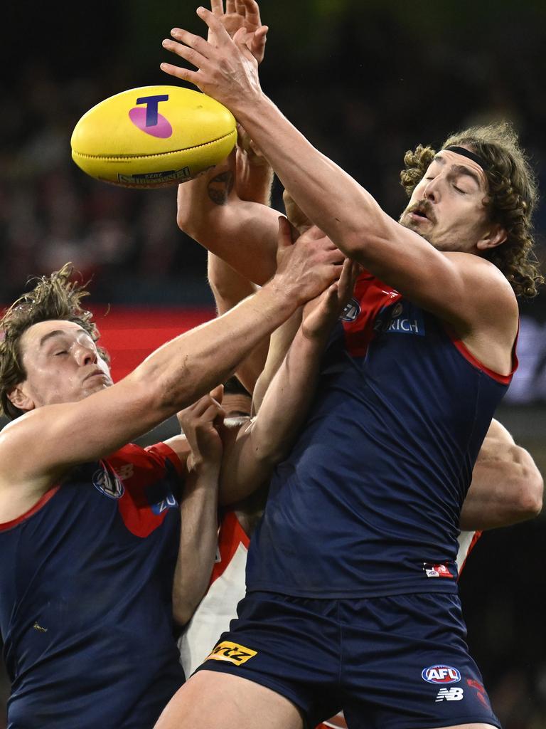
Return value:
[[(313, 234), (309, 231), (306, 235)], [(320, 357), (347, 303), (360, 266), (346, 261), (339, 282), (304, 308), (301, 327), (266, 391), (256, 418), (224, 443), (221, 502), (244, 499), (287, 454), (314, 397)]]

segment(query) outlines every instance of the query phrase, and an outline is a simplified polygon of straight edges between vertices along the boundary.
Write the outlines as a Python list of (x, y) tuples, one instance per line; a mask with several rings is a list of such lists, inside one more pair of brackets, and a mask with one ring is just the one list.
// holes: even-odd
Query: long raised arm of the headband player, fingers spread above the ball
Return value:
[[(344, 253), (415, 303), (446, 319), (460, 335), (480, 327), (496, 328), (494, 334), (502, 340), (504, 350), (510, 350), (517, 306), (502, 274), (478, 256), (437, 251), (387, 216), (363, 187), (314, 149), (266, 97), (245, 31), (238, 31), (231, 39), (214, 15), (204, 8), (197, 12), (209, 28), (214, 28), (217, 44), (213, 47), (199, 36), (174, 28), (175, 41), (165, 40), (164, 47), (196, 66), (197, 71), (166, 63), (162, 69), (194, 83), (232, 110), (298, 206)], [(502, 242), (502, 235), (499, 226), (491, 225), (483, 231), (480, 243), (494, 246)], [(485, 364), (497, 370), (508, 368), (497, 367), (496, 361)]]

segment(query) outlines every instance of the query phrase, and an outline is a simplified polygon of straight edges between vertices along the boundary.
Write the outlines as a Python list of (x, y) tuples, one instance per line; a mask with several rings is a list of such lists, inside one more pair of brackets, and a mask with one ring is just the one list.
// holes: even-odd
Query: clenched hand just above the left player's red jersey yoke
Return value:
[(220, 465), (223, 448), (218, 426), (225, 415), (221, 406), (222, 396), (223, 386), (219, 385), (210, 394), (177, 413), (178, 423), (191, 448), (187, 461), (189, 471), (203, 465)]

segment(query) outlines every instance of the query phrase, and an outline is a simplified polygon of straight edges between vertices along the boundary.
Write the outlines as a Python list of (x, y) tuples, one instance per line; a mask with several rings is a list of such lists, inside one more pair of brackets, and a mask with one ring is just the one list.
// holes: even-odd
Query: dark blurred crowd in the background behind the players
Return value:
[[(175, 188), (123, 190), (71, 161), (79, 117), (172, 83), (161, 40), (202, 33), (188, 0), (21, 1), (0, 44), (0, 303), (71, 260), (98, 307), (208, 308), (205, 252), (175, 224)], [(546, 4), (527, 0), (264, 0), (264, 89), (394, 217), (406, 149), (509, 119), (546, 189)], [(277, 186), (274, 205), (281, 206)], [(328, 195), (328, 190), (325, 190)], [(545, 261), (546, 205), (536, 216)], [(499, 419), (546, 472), (546, 292), (521, 306), (521, 367)], [(1, 555), (0, 555), (1, 558)], [(471, 650), (505, 729), (546, 728), (546, 518), (486, 534), (461, 591)], [(1, 691), (1, 690), (0, 690)], [(9, 687), (4, 681), (5, 700)], [(0, 718), (0, 728), (3, 718)]]

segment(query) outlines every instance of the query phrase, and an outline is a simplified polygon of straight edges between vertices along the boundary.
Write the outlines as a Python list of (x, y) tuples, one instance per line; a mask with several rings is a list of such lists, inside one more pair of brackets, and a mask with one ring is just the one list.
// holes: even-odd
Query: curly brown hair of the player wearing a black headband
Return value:
[[(502, 225), (507, 233), (506, 241), (488, 251), (486, 257), (505, 274), (516, 295), (536, 296), (544, 283), (534, 254), (531, 222), (538, 197), (537, 182), (513, 126), (499, 122), (470, 127), (451, 134), (442, 149), (451, 145), (468, 147), (486, 162), (489, 219)], [(414, 152), (405, 153), (400, 179), (408, 195), (421, 182), (435, 154), (432, 147), (421, 144)]]

